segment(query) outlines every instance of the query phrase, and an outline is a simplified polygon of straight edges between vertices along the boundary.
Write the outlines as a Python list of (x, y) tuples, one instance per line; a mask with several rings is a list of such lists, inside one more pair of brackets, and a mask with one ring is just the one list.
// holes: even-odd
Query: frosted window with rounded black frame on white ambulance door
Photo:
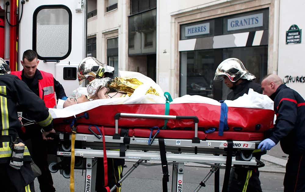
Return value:
[(71, 52), (72, 13), (64, 5), (43, 5), (34, 11), (33, 50), (41, 60), (62, 60)]

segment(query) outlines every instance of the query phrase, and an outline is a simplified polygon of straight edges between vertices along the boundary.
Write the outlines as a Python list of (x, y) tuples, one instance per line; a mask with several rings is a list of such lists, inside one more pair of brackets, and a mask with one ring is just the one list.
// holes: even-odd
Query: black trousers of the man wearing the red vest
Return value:
[(19, 136), (23, 140), (30, 138), (32, 145), (32, 150), (30, 150), (31, 157), (41, 170), (41, 175), (37, 177), (41, 192), (54, 192), (52, 175), (48, 169), (47, 141), (42, 139), (41, 127), (38, 125), (27, 127), (26, 133), (19, 133)]

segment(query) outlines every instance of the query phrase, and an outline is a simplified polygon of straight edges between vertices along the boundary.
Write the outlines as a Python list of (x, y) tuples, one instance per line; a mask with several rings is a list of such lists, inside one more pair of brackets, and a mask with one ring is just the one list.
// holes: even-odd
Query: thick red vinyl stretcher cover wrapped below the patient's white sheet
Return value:
[[(122, 104), (101, 105), (87, 111), (89, 119), (79, 119), (77, 123), (88, 125), (102, 125), (114, 127), (114, 116), (117, 113), (137, 113), (164, 115), (164, 104)], [(218, 130), (221, 106), (205, 103), (179, 103), (170, 104), (169, 115), (173, 116), (197, 116), (198, 127), (208, 129), (211, 127)], [(81, 116), (78, 114), (77, 116)], [(64, 123), (69, 118), (54, 119), (54, 123)], [(274, 111), (269, 109), (228, 107), (228, 131), (264, 132), (273, 127)], [(141, 127), (153, 126), (163, 127), (164, 119), (125, 118), (119, 119), (119, 127)], [(168, 129), (194, 129), (194, 122), (188, 119), (169, 119)]]

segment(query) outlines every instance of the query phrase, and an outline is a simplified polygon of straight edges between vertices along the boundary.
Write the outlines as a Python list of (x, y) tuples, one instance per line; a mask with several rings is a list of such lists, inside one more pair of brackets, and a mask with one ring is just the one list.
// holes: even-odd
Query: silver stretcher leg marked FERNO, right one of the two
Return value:
[(183, 187), (184, 163), (174, 163), (172, 173), (172, 192), (181, 192)]

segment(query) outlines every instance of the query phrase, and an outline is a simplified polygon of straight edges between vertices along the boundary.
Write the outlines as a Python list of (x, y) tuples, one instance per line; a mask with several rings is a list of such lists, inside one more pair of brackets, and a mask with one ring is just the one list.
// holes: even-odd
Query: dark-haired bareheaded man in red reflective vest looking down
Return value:
[[(56, 107), (56, 98), (66, 99), (66, 93), (63, 86), (55, 80), (51, 73), (40, 71), (37, 69), (39, 60), (37, 54), (33, 50), (23, 52), (21, 64), (22, 71), (14, 71), (11, 74), (18, 76), (36, 95), (45, 101), (48, 108)], [(22, 116), (29, 119), (30, 114), (24, 112), (25, 109), (20, 108), (23, 112)], [(25, 120), (23, 120), (25, 121)], [(41, 127), (39, 125), (25, 126), (25, 134), (20, 133), (23, 140), (31, 139), (32, 144), (32, 158), (34, 162), (41, 169), (41, 176), (38, 176), (40, 190), (43, 192), (54, 192), (53, 180), (51, 172), (48, 169), (48, 152), (47, 143), (38, 135)]]

